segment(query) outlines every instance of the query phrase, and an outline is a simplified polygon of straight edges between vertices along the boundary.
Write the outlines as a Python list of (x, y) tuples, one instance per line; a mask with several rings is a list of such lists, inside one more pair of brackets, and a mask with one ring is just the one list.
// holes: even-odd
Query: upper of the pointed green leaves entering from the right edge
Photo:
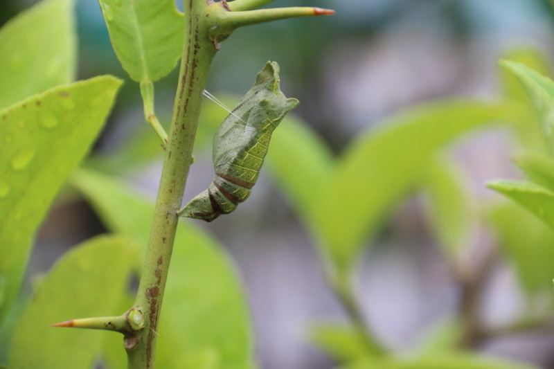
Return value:
[(524, 85), (533, 107), (542, 123), (542, 130), (551, 151), (554, 148), (554, 82), (525, 64), (501, 61), (501, 65), (513, 73)]

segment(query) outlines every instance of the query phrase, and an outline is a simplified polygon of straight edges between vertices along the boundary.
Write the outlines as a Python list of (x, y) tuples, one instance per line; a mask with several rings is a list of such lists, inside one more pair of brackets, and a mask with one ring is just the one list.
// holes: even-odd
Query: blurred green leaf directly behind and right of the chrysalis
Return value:
[(328, 146), (302, 120), (287, 116), (271, 138), (267, 159), (271, 174), (298, 213), (312, 219), (314, 192), (327, 183), (334, 165)]

